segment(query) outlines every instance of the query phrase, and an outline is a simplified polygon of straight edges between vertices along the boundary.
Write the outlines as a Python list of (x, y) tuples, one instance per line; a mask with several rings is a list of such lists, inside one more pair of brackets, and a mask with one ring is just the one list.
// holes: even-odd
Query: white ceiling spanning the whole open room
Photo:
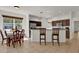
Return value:
[[(20, 6), (19, 9), (13, 6), (0, 6), (2, 10), (27, 12), (40, 17), (57, 17), (70, 12), (78, 12), (79, 6)], [(41, 12), (41, 13), (40, 13)]]

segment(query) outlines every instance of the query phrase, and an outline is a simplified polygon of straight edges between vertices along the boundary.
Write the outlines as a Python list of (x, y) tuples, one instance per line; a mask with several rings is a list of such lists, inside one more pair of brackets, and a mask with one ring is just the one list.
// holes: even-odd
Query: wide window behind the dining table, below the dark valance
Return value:
[(12, 29), (16, 26), (18, 29), (22, 28), (22, 19), (13, 18), (13, 17), (3, 17), (3, 28), (4, 29)]

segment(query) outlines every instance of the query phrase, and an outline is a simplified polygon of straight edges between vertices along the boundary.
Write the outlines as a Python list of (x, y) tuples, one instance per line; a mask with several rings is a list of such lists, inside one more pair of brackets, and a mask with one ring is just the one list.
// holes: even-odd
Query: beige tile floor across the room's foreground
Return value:
[(25, 41), (22, 46), (16, 46), (16, 48), (7, 47), (6, 44), (0, 44), (1, 53), (78, 53), (79, 52), (79, 39), (77, 34), (74, 35), (74, 39), (67, 40), (65, 43), (61, 43), (59, 47), (57, 43), (53, 46), (50, 42), (45, 46), (43, 43), (40, 45), (38, 42)]

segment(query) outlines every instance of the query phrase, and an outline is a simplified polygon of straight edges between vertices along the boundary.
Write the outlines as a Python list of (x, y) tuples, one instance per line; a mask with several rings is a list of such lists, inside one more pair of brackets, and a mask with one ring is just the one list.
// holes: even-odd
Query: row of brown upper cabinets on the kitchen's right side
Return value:
[(70, 26), (70, 20), (58, 20), (58, 21), (52, 21), (52, 26)]

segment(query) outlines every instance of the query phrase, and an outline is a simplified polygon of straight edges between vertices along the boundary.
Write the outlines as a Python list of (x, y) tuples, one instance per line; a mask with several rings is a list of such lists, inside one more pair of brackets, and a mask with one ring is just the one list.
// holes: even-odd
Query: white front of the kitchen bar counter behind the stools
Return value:
[[(66, 30), (65, 29), (59, 29), (59, 40), (60, 42), (65, 42), (66, 41)], [(36, 29), (31, 29), (31, 41), (34, 42), (39, 42), (40, 40), (40, 30), (39, 28)], [(52, 42), (52, 29), (47, 28), (46, 29), (46, 41), (47, 42)]]

